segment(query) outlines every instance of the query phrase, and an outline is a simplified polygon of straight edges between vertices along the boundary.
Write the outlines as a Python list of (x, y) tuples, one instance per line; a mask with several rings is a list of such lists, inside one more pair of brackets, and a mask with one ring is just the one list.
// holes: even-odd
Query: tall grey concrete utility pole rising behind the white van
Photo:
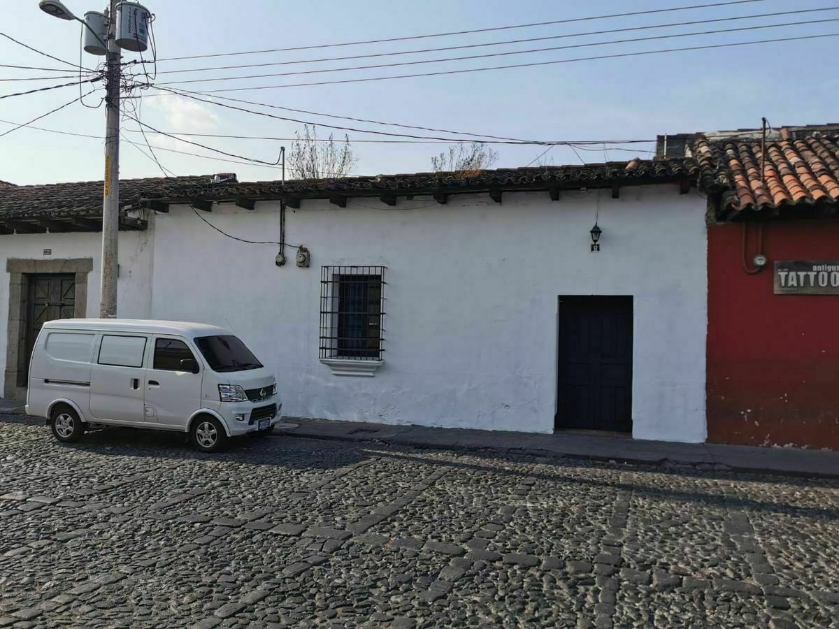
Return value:
[(102, 200), (102, 281), (99, 316), (117, 316), (119, 268), (119, 88), (122, 55), (117, 46), (117, 0), (108, 12), (105, 97), (105, 182)]

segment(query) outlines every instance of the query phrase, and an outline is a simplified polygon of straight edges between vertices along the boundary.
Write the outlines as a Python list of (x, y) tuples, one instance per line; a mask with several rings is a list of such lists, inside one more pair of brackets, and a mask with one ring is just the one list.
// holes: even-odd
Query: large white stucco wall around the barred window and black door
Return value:
[[(598, 205), (602, 251), (591, 253)], [(154, 226), (151, 316), (235, 330), (277, 373), (285, 414), (549, 433), (558, 295), (633, 295), (633, 436), (703, 441), (704, 209), (675, 185), (623, 188), (618, 200), (606, 190), (559, 202), (505, 194), (503, 205), (488, 195), (396, 208), (304, 201), (289, 209), (286, 237), (310, 249), (312, 266), (297, 268), (289, 248), (277, 268), (278, 247), (233, 241), (172, 206)], [(279, 240), (276, 202), (202, 216), (238, 237)], [(388, 268), (385, 364), (372, 378), (336, 377), (318, 358), (320, 266), (341, 264)]]

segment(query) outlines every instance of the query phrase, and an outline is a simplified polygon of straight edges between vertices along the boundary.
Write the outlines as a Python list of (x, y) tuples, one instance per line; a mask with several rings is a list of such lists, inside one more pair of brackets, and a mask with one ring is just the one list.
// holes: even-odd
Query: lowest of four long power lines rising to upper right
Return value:
[(603, 60), (603, 59), (620, 59), (623, 57), (638, 57), (643, 55), (662, 55), (664, 53), (673, 53), (673, 52), (685, 52), (690, 50), (708, 50), (708, 49), (716, 49), (716, 48), (732, 48), (735, 46), (751, 46), (755, 44), (777, 44), (780, 42), (789, 42), (789, 41), (803, 41), (805, 39), (822, 39), (826, 37), (836, 37), (839, 33), (826, 33), (826, 34), (819, 34), (819, 35), (802, 35), (799, 37), (783, 37), (778, 39), (758, 39), (757, 41), (746, 41), (746, 42), (732, 42), (731, 44), (706, 44), (702, 46), (687, 46), (685, 48), (667, 48), (667, 49), (659, 49), (659, 50), (642, 50), (639, 52), (631, 52), (631, 53), (616, 53), (614, 55), (597, 55), (591, 57), (575, 57), (573, 59), (560, 59), (560, 60), (553, 60), (553, 61), (534, 61), (530, 63), (522, 63), (522, 64), (510, 64), (510, 65), (493, 65), (488, 68), (466, 68), (465, 70), (440, 70), (438, 72), (420, 72), (416, 74), (409, 74), (409, 75), (391, 75), (391, 76), (369, 76), (362, 79), (340, 79), (335, 81), (311, 81), (309, 83), (286, 83), (284, 85), (279, 86), (253, 86), (253, 87), (226, 87), (223, 89), (218, 90), (205, 90), (203, 93), (205, 94), (215, 94), (219, 92), (230, 92), (230, 91), (253, 91), (253, 90), (278, 90), (284, 89), (286, 87), (310, 87), (310, 86), (328, 86), (328, 85), (339, 85), (344, 83), (365, 83), (368, 81), (392, 81), (393, 79), (414, 79), (421, 76), (442, 76), (442, 75), (459, 75), (459, 74), (466, 74), (469, 72), (487, 72), (489, 70), (510, 70), (514, 68), (529, 68), (529, 67), (536, 67), (540, 65), (555, 65), (555, 64), (568, 64), (568, 63), (577, 63), (580, 61), (594, 61), (594, 60)]

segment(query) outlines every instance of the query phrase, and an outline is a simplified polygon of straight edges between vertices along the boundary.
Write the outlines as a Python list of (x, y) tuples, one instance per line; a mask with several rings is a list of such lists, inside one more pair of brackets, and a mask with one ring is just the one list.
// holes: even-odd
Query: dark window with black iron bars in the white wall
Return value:
[(383, 359), (385, 269), (320, 268), (320, 358)]

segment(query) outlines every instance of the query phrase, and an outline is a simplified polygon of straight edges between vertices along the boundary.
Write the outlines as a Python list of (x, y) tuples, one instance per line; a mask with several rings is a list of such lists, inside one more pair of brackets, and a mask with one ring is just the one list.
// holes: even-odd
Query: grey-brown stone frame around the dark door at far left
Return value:
[(6, 370), (3, 397), (23, 400), (26, 383), (18, 382), (22, 375), (20, 361), (26, 355), (26, 309), (29, 299), (29, 275), (35, 273), (73, 273), (76, 276), (76, 306), (74, 316), (87, 314), (87, 274), (93, 270), (92, 257), (60, 260), (27, 260), (9, 258), (6, 261), (8, 280), (8, 325), (6, 332)]

